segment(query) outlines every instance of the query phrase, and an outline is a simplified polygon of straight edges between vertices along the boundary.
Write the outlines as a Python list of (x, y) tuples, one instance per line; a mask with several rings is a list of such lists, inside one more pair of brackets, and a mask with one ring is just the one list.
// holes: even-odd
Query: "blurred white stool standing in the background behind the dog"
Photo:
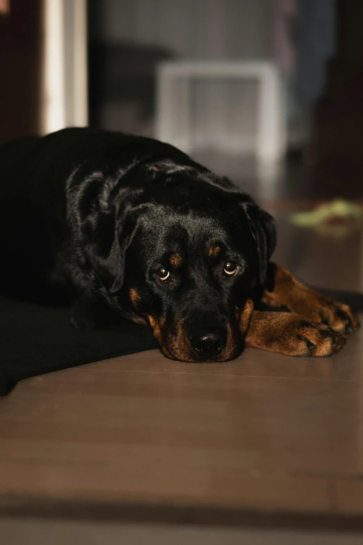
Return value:
[(186, 153), (193, 150), (190, 99), (191, 81), (195, 79), (257, 80), (257, 159), (261, 164), (274, 164), (281, 159), (287, 141), (282, 90), (275, 65), (268, 61), (161, 63), (157, 72), (157, 139)]

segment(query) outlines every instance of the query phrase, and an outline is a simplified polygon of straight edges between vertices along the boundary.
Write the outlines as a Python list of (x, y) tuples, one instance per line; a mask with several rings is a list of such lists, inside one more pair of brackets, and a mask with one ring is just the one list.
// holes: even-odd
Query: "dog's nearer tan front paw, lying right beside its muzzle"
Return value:
[(330, 356), (346, 339), (321, 322), (295, 313), (254, 310), (245, 338), (246, 346), (287, 356)]

